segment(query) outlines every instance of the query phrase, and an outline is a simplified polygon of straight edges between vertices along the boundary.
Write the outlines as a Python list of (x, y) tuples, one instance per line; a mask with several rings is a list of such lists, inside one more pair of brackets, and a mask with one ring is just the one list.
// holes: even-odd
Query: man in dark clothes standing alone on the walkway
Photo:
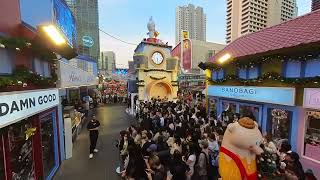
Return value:
[(100, 122), (97, 121), (96, 116), (93, 115), (91, 121), (87, 125), (87, 129), (90, 135), (90, 155), (89, 155), (90, 159), (93, 158), (93, 153), (98, 152), (98, 150), (96, 149), (96, 145), (97, 145), (97, 140), (99, 136), (99, 131), (98, 131), (99, 126), (100, 126)]

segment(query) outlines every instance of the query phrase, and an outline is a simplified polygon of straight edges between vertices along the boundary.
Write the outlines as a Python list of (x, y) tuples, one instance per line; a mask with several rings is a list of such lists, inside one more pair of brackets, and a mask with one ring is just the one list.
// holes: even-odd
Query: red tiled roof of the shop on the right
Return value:
[(320, 10), (242, 36), (213, 56), (229, 53), (233, 59), (279, 53), (288, 49), (320, 46)]

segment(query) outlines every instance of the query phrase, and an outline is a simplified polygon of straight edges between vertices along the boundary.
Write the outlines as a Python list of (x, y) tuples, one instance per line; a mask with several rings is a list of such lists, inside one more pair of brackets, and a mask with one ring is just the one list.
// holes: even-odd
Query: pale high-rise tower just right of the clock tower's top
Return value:
[(206, 14), (202, 7), (189, 4), (176, 8), (176, 44), (181, 41), (182, 31), (189, 31), (190, 39), (206, 41)]

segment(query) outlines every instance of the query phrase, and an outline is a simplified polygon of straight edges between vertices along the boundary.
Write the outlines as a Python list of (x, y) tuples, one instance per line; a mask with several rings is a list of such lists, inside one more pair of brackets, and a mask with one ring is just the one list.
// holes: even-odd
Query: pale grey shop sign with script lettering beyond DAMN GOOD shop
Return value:
[(60, 66), (60, 87), (76, 87), (98, 85), (98, 79), (93, 74), (82, 69), (59, 61)]

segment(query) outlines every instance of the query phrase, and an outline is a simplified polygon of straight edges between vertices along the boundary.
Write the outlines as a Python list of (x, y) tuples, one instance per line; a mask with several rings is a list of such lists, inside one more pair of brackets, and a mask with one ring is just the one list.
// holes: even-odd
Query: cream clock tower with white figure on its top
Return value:
[(150, 18), (149, 38), (137, 46), (134, 51), (138, 95), (140, 101), (151, 98), (175, 101), (178, 92), (178, 59), (171, 56), (172, 46), (157, 39), (158, 32)]

